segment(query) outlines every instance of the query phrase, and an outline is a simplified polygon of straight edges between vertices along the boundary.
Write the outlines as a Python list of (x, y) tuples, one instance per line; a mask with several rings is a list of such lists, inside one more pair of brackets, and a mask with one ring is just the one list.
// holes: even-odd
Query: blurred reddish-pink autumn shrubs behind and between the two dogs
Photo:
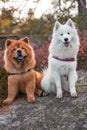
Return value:
[[(78, 67), (77, 69), (87, 69), (87, 31), (79, 32), (80, 37), (80, 49), (78, 53)], [(51, 39), (50, 39), (51, 40)], [(36, 43), (31, 43), (31, 46), (34, 48), (36, 55), (36, 69), (42, 71), (43, 68), (47, 67), (48, 64), (48, 55), (50, 41), (38, 45)], [(0, 49), (0, 67), (3, 67), (3, 50)]]

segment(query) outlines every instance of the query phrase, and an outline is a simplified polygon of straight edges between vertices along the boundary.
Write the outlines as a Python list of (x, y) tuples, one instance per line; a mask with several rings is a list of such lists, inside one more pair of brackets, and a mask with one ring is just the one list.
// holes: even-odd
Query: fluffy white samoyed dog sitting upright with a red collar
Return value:
[(62, 25), (56, 21), (49, 47), (48, 68), (43, 71), (43, 90), (56, 93), (57, 98), (63, 96), (62, 89), (69, 91), (72, 97), (77, 96), (75, 83), (79, 45), (74, 22), (69, 19)]

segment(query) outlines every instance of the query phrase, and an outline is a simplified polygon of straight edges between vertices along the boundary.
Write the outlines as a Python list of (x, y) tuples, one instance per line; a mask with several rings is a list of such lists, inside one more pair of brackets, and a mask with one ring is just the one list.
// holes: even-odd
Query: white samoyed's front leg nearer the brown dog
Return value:
[(57, 90), (57, 98), (62, 98), (62, 87), (61, 87), (61, 76), (57, 73), (54, 72), (54, 80), (55, 80), (55, 84), (56, 84), (56, 90)]

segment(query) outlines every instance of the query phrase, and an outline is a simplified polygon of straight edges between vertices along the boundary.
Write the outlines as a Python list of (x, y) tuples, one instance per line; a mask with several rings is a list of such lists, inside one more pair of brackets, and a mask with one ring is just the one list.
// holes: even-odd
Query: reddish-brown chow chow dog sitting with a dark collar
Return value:
[(35, 55), (27, 37), (20, 40), (7, 39), (4, 53), (5, 69), (8, 77), (8, 96), (4, 104), (10, 104), (20, 90), (27, 94), (28, 102), (35, 101), (35, 94), (42, 95), (40, 82), (43, 75), (33, 68)]

